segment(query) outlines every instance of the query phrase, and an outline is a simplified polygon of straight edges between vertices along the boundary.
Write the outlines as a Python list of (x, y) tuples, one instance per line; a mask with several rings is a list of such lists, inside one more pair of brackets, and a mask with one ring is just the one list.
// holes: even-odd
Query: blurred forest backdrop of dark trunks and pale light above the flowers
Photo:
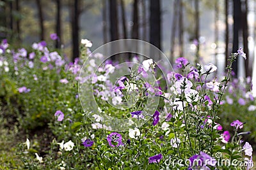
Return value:
[(141, 39), (172, 63), (177, 57), (212, 62), (218, 74), (243, 46), (248, 59), (238, 59), (234, 72), (252, 76), (255, 9), (255, 0), (1, 0), (0, 38), (14, 46), (45, 40), (70, 60), (79, 56), (81, 38), (93, 41), (92, 50), (116, 39)]

